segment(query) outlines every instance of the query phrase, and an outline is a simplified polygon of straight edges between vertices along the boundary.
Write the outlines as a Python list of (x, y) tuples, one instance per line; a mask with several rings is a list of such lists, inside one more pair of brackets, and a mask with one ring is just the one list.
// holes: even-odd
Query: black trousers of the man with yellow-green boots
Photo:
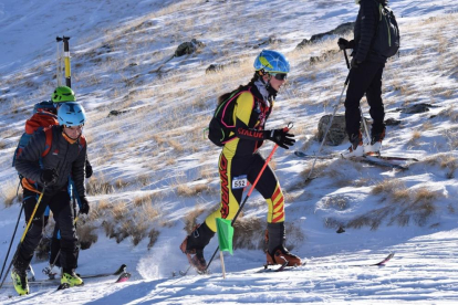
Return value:
[[(25, 212), (25, 222), (28, 222), (30, 217), (32, 215), (38, 199), (38, 193), (24, 189), (23, 204)], [(63, 188), (56, 193), (45, 193), (43, 196), (33, 217), (29, 231), (27, 232), (21, 248), (18, 251), (18, 257), (15, 260), (14, 267), (20, 270), (27, 269), (27, 266), (30, 264), (30, 261), (33, 257), (33, 252), (39, 245), (43, 234), (42, 231), (45, 225), (44, 210), (46, 209), (46, 206), (50, 207), (54, 217), (54, 221), (61, 232), (61, 265), (64, 269), (64, 271), (74, 270), (76, 267), (77, 260), (77, 238), (75, 228), (73, 225), (73, 208), (66, 188)]]

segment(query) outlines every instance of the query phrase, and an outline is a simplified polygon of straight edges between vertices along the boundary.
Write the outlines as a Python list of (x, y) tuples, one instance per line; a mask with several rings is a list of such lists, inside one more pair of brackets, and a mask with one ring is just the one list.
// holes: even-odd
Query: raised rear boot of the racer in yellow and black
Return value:
[(204, 248), (210, 242), (215, 232), (208, 228), (204, 222), (196, 225), (192, 232), (179, 245), (179, 250), (186, 254), (189, 264), (194, 266), (197, 272), (205, 272), (207, 270), (207, 262), (204, 257)]

